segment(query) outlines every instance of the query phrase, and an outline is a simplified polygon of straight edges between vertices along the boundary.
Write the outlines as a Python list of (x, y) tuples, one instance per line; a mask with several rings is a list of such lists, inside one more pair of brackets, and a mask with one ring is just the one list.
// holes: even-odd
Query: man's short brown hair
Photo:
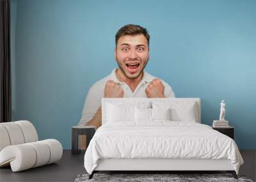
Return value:
[(129, 24), (129, 25), (126, 25), (126, 26), (123, 26), (121, 27), (117, 33), (116, 33), (116, 45), (117, 45), (117, 42), (118, 42), (118, 39), (121, 37), (121, 36), (124, 36), (124, 35), (136, 35), (136, 34), (143, 34), (145, 36), (145, 38), (147, 38), (147, 41), (148, 41), (148, 47), (149, 47), (149, 39), (150, 39), (150, 36), (148, 34), (148, 31), (147, 29), (141, 27), (141, 26), (136, 26), (136, 25), (132, 25), (132, 24)]

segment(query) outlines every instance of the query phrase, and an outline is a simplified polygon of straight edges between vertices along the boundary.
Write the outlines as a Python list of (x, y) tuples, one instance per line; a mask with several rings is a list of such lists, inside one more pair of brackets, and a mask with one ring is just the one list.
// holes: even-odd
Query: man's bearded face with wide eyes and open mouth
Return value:
[(115, 49), (116, 62), (129, 79), (136, 79), (148, 62), (148, 42), (143, 34), (124, 35), (118, 39)]

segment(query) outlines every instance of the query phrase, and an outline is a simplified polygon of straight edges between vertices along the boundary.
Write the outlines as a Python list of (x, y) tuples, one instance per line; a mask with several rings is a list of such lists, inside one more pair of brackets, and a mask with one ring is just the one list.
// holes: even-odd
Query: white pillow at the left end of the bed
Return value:
[(135, 120), (134, 106), (113, 105), (108, 103), (106, 115), (107, 122)]

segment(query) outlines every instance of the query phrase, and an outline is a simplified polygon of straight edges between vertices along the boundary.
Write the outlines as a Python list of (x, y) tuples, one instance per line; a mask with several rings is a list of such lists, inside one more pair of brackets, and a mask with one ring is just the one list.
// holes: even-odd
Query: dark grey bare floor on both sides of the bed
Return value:
[[(241, 150), (244, 164), (239, 174), (246, 178), (256, 179), (256, 151)], [(36, 167), (21, 172), (12, 172), (10, 167), (0, 169), (0, 181), (74, 181), (78, 174), (86, 173), (83, 165), (84, 153), (72, 155), (64, 150), (61, 160), (57, 163)]]

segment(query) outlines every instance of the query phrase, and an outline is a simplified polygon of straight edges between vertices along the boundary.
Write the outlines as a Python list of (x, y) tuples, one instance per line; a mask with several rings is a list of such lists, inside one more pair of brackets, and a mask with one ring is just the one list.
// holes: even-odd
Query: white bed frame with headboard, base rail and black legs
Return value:
[[(151, 102), (151, 101), (172, 101), (172, 102), (195, 102), (198, 106), (197, 123), (201, 122), (200, 98), (102, 98), (102, 125), (106, 122), (106, 102)], [(93, 174), (100, 171), (147, 171), (147, 173), (163, 173), (170, 171), (226, 171), (237, 179), (236, 171), (230, 160), (211, 159), (163, 159), (163, 158), (108, 158), (100, 159), (89, 179)]]

